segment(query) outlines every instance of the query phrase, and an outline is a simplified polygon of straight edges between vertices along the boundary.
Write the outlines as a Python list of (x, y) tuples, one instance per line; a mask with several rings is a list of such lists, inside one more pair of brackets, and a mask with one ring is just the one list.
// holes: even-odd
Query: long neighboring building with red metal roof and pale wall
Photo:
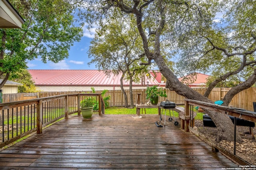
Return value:
[[(87, 91), (94, 87), (95, 90), (120, 90), (122, 73), (106, 75), (100, 70), (28, 70), (35, 82), (37, 90), (44, 92)], [(142, 76), (140, 82), (133, 82), (133, 89), (148, 86), (165, 86), (161, 83), (161, 73), (150, 72), (151, 76)], [(124, 89), (129, 89), (129, 81), (123, 81)]]

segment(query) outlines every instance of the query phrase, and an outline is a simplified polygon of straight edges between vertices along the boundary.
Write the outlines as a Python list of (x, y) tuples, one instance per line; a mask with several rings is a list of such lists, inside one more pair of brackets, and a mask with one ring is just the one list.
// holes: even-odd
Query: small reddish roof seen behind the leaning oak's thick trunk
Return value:
[[(178, 78), (180, 82), (190, 85), (205, 85), (209, 75), (196, 72), (194, 74), (188, 74), (187, 76)], [(186, 80), (187, 79), (187, 80)]]

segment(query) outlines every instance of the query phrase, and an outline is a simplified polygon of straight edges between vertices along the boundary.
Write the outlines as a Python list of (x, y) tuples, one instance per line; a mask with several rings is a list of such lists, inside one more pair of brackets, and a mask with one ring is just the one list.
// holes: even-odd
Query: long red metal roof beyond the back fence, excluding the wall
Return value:
[[(28, 70), (36, 86), (120, 86), (122, 73), (107, 76), (99, 70)], [(129, 86), (129, 81), (123, 81)], [(142, 86), (140, 83), (132, 83)], [(144, 84), (143, 84), (144, 85)], [(159, 85), (156, 79), (151, 78), (149, 85)]]

